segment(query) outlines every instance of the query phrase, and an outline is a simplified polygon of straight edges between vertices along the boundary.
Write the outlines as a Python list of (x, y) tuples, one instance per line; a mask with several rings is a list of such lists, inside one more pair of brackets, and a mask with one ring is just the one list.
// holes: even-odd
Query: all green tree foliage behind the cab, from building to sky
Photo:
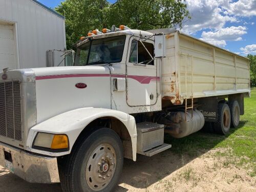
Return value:
[(189, 13), (182, 0), (66, 0), (55, 10), (66, 17), (67, 47), (93, 29), (126, 25), (132, 29), (182, 27)]

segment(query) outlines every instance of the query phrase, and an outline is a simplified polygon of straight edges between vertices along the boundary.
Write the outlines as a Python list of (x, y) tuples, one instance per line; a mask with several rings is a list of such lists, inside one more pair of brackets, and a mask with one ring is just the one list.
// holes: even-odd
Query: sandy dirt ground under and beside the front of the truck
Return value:
[[(124, 160), (118, 192), (126, 191), (253, 191), (256, 180), (248, 170), (232, 165), (229, 158), (217, 157), (216, 150), (196, 157), (180, 156), (167, 150), (153, 157)], [(59, 184), (32, 184), (0, 166), (0, 191), (61, 191)]]

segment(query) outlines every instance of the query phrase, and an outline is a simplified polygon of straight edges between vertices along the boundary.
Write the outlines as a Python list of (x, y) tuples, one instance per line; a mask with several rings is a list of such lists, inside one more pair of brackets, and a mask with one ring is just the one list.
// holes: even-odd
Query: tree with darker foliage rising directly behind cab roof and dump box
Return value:
[(181, 0), (119, 0), (111, 6), (108, 20), (132, 29), (182, 28), (190, 18)]

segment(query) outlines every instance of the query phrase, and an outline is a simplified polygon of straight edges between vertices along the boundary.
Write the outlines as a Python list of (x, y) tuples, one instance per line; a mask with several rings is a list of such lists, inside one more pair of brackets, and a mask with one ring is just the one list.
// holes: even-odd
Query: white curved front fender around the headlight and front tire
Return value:
[[(132, 139), (133, 160), (136, 161), (137, 131), (134, 117), (120, 111), (102, 108), (80, 108), (72, 110), (33, 126), (29, 131), (26, 150), (55, 157), (70, 154), (82, 130), (90, 122), (100, 117), (115, 117), (126, 126)], [(68, 152), (53, 153), (32, 148), (32, 143), (37, 132), (68, 135), (70, 150)]]

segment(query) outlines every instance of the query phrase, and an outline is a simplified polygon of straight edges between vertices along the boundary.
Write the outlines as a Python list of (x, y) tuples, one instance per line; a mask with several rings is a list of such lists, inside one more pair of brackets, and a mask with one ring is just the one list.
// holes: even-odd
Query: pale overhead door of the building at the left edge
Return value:
[(13, 25), (0, 23), (0, 72), (16, 69)]

